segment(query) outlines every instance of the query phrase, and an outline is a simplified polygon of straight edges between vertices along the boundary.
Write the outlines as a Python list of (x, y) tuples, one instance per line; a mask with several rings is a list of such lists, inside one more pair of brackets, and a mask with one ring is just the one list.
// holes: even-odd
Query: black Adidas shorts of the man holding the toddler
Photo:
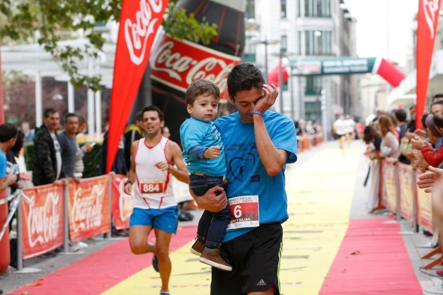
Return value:
[(232, 271), (212, 268), (211, 295), (242, 295), (275, 287), (280, 294), (283, 250), (280, 223), (266, 223), (221, 245)]

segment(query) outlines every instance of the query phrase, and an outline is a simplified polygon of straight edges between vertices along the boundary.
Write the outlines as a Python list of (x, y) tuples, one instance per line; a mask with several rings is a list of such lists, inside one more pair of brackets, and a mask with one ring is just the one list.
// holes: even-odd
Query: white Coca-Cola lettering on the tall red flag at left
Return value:
[[(149, 4), (148, 4), (149, 3)], [(158, 18), (153, 18), (153, 12), (158, 14), (162, 10), (162, 0), (140, 0), (140, 9), (135, 12), (135, 22), (125, 20), (125, 41), (131, 61), (139, 65), (145, 58), (149, 36), (154, 33), (154, 26)]]

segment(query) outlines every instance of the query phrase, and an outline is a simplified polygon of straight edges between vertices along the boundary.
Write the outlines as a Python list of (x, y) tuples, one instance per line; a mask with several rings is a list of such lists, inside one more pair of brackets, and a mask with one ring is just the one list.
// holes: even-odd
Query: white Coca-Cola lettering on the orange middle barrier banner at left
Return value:
[(86, 231), (101, 226), (104, 191), (104, 184), (94, 184), (91, 193), (86, 196), (83, 196), (82, 187), (76, 189), (71, 208), (74, 232)]

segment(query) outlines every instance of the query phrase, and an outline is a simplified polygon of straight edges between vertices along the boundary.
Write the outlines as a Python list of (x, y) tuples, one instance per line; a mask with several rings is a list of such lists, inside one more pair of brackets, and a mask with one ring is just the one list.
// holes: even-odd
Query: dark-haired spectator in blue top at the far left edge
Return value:
[(0, 193), (4, 194), (6, 188), (17, 182), (17, 176), (6, 174), (7, 159), (6, 151), (14, 147), (17, 139), (17, 127), (10, 123), (0, 125)]

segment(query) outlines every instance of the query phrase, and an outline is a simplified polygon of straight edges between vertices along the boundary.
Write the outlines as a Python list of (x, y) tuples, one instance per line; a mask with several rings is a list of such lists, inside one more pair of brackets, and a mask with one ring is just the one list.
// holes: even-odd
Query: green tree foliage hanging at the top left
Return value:
[[(122, 0), (0, 0), (1, 44), (30, 43), (34, 38), (49, 52), (71, 78), (75, 87), (87, 84), (100, 89), (100, 75), (80, 74), (77, 63), (86, 57), (96, 58), (105, 39), (97, 24), (118, 21)], [(217, 25), (199, 23), (184, 8), (175, 9), (178, 0), (170, 0), (163, 27), (172, 37), (209, 43), (217, 36)], [(75, 38), (83, 32), (90, 45), (85, 48), (60, 46), (59, 41)]]

